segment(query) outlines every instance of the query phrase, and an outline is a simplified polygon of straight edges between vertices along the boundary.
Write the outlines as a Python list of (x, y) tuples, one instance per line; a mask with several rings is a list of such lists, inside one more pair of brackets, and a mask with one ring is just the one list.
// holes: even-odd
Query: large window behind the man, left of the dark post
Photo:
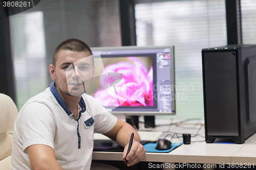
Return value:
[(18, 110), (52, 83), (48, 68), (62, 41), (121, 45), (118, 0), (40, 1), (9, 18)]

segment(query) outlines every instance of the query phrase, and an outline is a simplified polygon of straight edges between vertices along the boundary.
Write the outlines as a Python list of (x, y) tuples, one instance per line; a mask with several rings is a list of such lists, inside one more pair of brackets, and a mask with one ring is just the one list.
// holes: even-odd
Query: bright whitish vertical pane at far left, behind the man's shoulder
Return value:
[(42, 12), (11, 17), (17, 107), (47, 87), (46, 46)]

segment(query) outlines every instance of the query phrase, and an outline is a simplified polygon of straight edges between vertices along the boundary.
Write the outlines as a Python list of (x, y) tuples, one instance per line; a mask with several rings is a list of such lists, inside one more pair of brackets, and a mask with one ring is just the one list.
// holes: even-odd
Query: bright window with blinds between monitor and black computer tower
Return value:
[(135, 18), (137, 45), (175, 45), (177, 116), (203, 118), (201, 51), (227, 43), (225, 1), (136, 0)]

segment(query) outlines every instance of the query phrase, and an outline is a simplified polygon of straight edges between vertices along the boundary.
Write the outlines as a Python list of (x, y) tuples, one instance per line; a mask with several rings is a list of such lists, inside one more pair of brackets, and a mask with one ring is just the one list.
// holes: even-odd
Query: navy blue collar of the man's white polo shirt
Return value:
[[(63, 102), (63, 100), (61, 99), (61, 96), (59, 95), (59, 92), (58, 90), (56, 89), (55, 87), (55, 81), (52, 82), (51, 86), (50, 86), (50, 90), (52, 92), (52, 94), (54, 95), (56, 101), (58, 102), (58, 104), (62, 107), (62, 109), (64, 109), (66, 111), (66, 113), (70, 116), (70, 117), (73, 117), (75, 118), (75, 115), (72, 114), (72, 112), (69, 110), (69, 108), (65, 105), (65, 103)], [(80, 98), (80, 101), (79, 101), (79, 106), (81, 108), (81, 111), (79, 112), (79, 117), (78, 119), (80, 118), (81, 116), (81, 113), (83, 113), (84, 111), (86, 111), (86, 103), (84, 102), (82, 96)], [(78, 120), (77, 119), (77, 120)]]

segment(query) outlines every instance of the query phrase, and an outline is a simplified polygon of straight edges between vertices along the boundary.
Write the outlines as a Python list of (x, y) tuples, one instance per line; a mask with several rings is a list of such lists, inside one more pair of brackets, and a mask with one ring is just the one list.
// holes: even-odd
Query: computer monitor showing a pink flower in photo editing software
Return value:
[(92, 52), (95, 79), (89, 94), (106, 110), (175, 114), (174, 46), (93, 47)]

